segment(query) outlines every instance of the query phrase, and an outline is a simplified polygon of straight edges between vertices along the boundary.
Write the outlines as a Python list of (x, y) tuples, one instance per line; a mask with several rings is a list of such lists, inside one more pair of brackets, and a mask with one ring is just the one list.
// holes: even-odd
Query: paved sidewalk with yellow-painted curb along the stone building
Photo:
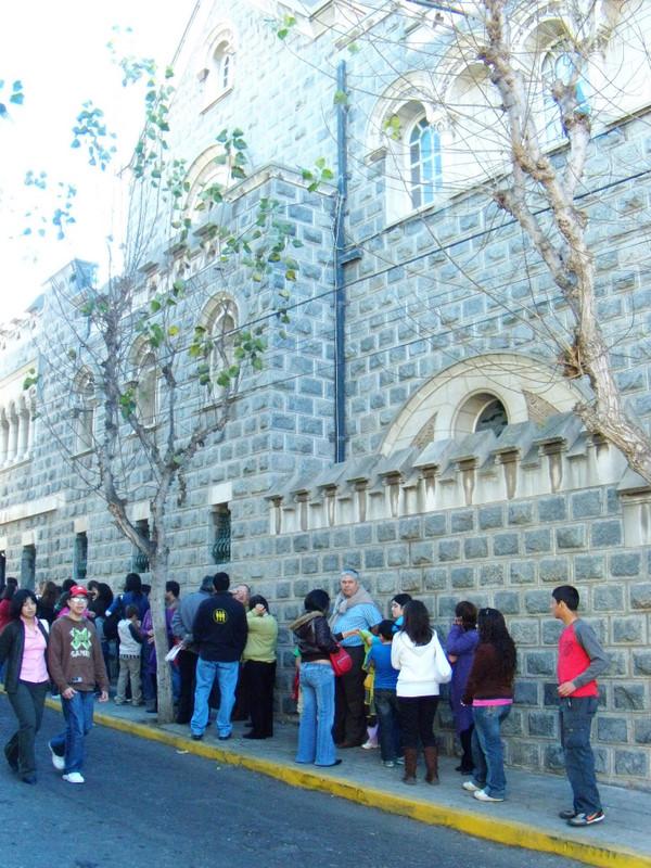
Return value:
[[(58, 701), (48, 700), (60, 710)], [(178, 751), (205, 756), (220, 763), (248, 768), (282, 780), (292, 787), (320, 790), (358, 804), (380, 807), (394, 814), (511, 846), (556, 853), (588, 865), (651, 868), (651, 795), (620, 787), (600, 784), (605, 821), (587, 829), (572, 829), (558, 818), (571, 807), (570, 787), (562, 777), (508, 769), (509, 797), (500, 804), (481, 804), (461, 788), (463, 780), (454, 770), (458, 761), (442, 757), (441, 786), (423, 781), (419, 767), (417, 787), (406, 787), (401, 767), (384, 768), (379, 751), (360, 748), (339, 752), (343, 760), (332, 769), (294, 763), (297, 727), (277, 723), (272, 739), (242, 739), (243, 724), (235, 724), (229, 741), (218, 741), (210, 726), (203, 741), (190, 739), (189, 727), (158, 726), (156, 716), (143, 709), (95, 704), (95, 723), (169, 744)]]

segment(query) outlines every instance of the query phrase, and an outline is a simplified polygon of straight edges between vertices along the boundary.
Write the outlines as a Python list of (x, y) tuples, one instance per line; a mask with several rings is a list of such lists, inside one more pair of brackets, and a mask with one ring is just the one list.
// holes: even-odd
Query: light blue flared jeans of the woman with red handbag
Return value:
[(334, 673), (330, 663), (303, 663), (301, 692), (303, 714), (298, 725), (296, 762), (332, 766), (336, 756), (332, 738)]

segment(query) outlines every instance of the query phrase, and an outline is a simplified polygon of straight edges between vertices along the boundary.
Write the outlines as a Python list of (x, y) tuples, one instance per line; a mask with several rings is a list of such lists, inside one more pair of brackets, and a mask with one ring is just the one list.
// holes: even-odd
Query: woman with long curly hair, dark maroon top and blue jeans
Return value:
[(463, 789), (480, 802), (503, 802), (507, 791), (500, 728), (513, 704), (515, 644), (497, 609), (481, 609), (480, 643), (463, 694), (472, 705), (472, 780)]

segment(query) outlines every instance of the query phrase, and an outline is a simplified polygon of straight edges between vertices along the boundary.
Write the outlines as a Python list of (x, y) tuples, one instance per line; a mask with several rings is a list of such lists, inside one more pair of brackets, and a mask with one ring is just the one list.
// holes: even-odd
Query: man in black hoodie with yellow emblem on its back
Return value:
[(208, 699), (215, 678), (221, 695), (217, 736), (220, 741), (231, 737), (238, 669), (248, 631), (244, 607), (228, 592), (228, 573), (217, 573), (213, 585), (215, 593), (201, 603), (192, 624), (192, 636), (199, 646), (194, 714), (190, 722), (195, 741), (203, 738), (208, 725)]

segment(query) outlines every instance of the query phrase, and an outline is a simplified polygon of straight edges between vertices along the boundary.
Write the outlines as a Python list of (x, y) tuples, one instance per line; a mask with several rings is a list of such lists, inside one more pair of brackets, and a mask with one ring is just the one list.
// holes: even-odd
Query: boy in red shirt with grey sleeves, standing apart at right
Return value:
[(602, 822), (605, 817), (597, 789), (590, 729), (598, 706), (597, 677), (608, 669), (610, 660), (595, 630), (576, 614), (578, 603), (578, 591), (572, 585), (560, 585), (551, 592), (551, 613), (564, 626), (559, 639), (558, 691), (561, 745), (574, 796), (572, 808), (559, 816), (570, 826), (580, 827)]

